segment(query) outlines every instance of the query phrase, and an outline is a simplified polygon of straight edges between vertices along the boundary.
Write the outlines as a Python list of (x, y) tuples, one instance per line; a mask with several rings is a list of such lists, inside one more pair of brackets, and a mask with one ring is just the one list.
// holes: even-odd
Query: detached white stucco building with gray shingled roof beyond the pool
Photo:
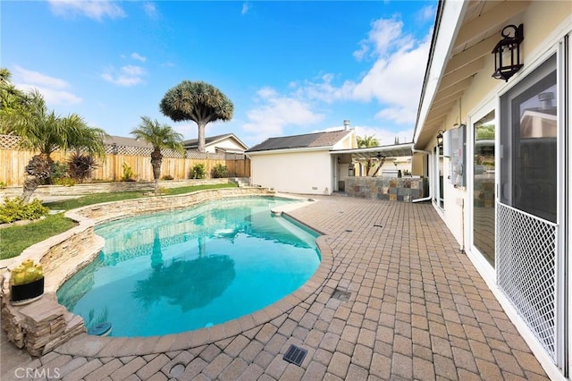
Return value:
[(357, 148), (351, 129), (270, 138), (246, 151), (250, 183), (284, 192), (331, 194), (343, 180), (338, 178), (341, 159), (332, 151), (350, 148)]

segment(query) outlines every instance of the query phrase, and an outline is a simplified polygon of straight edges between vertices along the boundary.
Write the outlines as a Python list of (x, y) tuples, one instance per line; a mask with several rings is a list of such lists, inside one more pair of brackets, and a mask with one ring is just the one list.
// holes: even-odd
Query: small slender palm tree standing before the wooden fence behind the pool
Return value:
[(161, 163), (163, 162), (162, 148), (171, 148), (183, 152), (182, 135), (172, 130), (167, 124), (159, 124), (147, 116), (141, 116), (139, 127), (130, 132), (137, 140), (147, 141), (153, 146), (151, 153), (151, 165), (153, 166), (153, 178), (155, 179), (155, 194), (159, 191), (159, 178), (161, 177)]

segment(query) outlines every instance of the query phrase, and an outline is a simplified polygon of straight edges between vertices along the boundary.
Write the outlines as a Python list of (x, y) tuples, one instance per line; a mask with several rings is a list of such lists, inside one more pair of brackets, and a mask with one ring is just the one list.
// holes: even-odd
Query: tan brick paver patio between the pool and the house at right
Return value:
[[(2, 380), (547, 379), (431, 205), (313, 198), (290, 215), (326, 234), (330, 268), (303, 300), (209, 338), (83, 334), (38, 359), (3, 339)], [(301, 367), (282, 359), (291, 343)]]

